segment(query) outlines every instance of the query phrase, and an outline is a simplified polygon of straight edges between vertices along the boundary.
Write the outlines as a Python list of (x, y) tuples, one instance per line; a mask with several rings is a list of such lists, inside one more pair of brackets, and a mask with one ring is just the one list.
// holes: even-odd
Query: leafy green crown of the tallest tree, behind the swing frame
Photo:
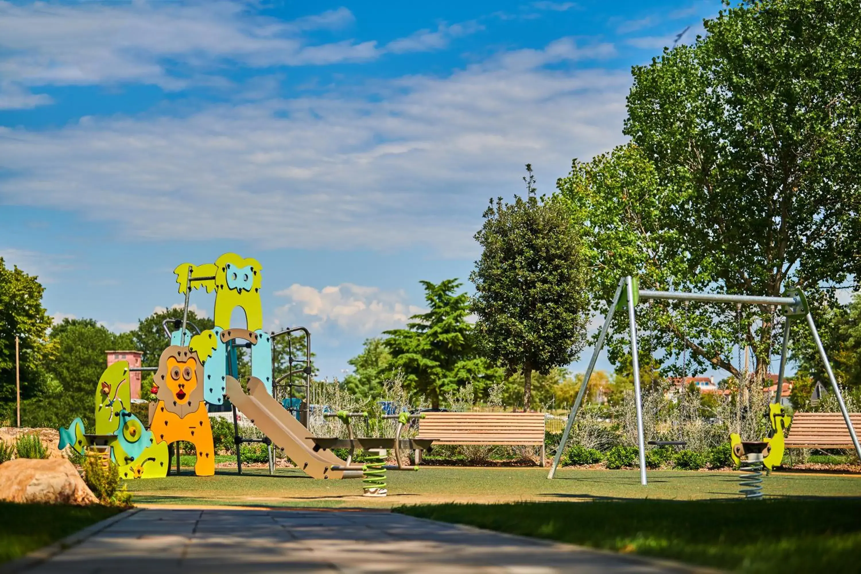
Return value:
[[(695, 45), (633, 68), (631, 143), (575, 160), (558, 182), (584, 225), (600, 312), (624, 275), (650, 289), (779, 296), (861, 265), (857, 3), (747, 2), (703, 23)], [(638, 316), (643, 353), (662, 349), (666, 367), (681, 370), (687, 349), (685, 374), (710, 364), (738, 377), (740, 343), (759, 380), (782, 326), (772, 306), (651, 301)], [(611, 337), (611, 358), (627, 344)]]

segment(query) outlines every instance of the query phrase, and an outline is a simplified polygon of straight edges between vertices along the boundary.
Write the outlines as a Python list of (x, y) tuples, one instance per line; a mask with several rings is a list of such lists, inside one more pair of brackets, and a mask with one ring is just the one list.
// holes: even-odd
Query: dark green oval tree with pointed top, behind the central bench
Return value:
[(536, 198), (532, 168), (527, 198), (498, 198), (475, 234), (483, 251), (469, 278), (472, 310), (486, 355), (506, 375), (523, 373), (523, 406), (531, 404), (532, 372), (547, 375), (583, 349), (588, 321), (585, 256), (579, 225), (554, 198)]

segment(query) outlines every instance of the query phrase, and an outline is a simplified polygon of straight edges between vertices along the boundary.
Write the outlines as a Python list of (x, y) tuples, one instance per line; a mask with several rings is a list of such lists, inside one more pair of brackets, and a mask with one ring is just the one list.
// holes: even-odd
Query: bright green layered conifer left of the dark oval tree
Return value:
[(476, 392), (499, 379), (499, 370), (480, 356), (467, 321), (469, 296), (455, 294), (456, 279), (421, 281), (430, 311), (411, 317), (406, 329), (387, 330), (383, 340), (390, 373), (403, 373), (407, 389), (437, 408), (440, 398), (472, 381)]

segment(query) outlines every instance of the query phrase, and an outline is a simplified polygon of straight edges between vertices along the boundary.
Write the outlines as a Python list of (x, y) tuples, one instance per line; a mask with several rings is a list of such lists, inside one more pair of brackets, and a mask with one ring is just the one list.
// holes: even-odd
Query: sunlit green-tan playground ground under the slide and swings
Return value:
[[(388, 472), (389, 496), (361, 497), (362, 481), (314, 480), (293, 468), (216, 469), (195, 477), (191, 465), (181, 476), (127, 480), (137, 504), (227, 504), (263, 506), (391, 507), (413, 503), (505, 503), (664, 498), (692, 500), (737, 498), (735, 472), (649, 472), (643, 487), (637, 471), (568, 470), (547, 479), (542, 468), (468, 468), (428, 466), (418, 472)], [(861, 475), (774, 473), (764, 491), (774, 497), (861, 496)], [(749, 502), (749, 501), (748, 501)]]

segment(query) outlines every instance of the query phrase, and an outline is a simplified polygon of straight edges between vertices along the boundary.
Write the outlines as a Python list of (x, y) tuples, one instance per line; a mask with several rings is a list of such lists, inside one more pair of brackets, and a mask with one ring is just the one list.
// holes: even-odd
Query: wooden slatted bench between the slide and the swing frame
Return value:
[[(419, 436), (434, 437), (433, 446), (530, 445), (541, 447), (544, 466), (544, 413), (542, 412), (427, 412), (418, 422)], [(416, 464), (421, 451), (416, 451)]]

